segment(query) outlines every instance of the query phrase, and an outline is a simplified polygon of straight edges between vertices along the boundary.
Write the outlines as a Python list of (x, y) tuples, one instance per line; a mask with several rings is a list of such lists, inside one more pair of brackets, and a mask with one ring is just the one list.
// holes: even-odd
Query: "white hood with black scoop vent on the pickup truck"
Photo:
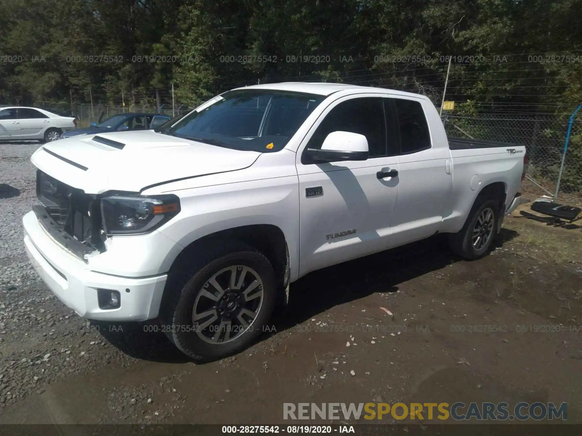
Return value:
[(260, 155), (143, 130), (64, 138), (42, 145), (31, 162), (87, 194), (101, 194), (242, 170)]

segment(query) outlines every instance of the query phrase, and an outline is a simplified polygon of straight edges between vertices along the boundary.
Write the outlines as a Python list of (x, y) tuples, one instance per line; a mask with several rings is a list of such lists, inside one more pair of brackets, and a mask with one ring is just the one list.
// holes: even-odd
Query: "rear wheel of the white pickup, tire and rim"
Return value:
[(498, 220), (499, 202), (477, 197), (463, 228), (449, 235), (451, 251), (464, 259), (482, 258), (491, 248)]

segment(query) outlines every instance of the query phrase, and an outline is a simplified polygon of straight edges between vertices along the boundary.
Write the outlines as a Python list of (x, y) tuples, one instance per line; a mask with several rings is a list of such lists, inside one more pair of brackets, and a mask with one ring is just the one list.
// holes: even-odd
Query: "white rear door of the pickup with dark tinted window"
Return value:
[(389, 241), (392, 247), (427, 238), (441, 228), (452, 187), (452, 160), (448, 144), (432, 143), (425, 115), (431, 102), (395, 96), (385, 103), (387, 122), (399, 137), (398, 201)]

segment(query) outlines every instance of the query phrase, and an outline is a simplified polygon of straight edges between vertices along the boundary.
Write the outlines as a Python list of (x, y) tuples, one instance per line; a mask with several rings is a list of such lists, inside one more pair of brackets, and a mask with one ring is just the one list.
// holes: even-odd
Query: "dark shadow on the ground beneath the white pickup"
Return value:
[[(502, 229), (495, 247), (517, 235), (516, 231)], [(272, 317), (275, 328), (261, 334), (258, 341), (288, 330), (334, 306), (376, 292), (396, 292), (400, 283), (460, 260), (448, 251), (446, 235), (437, 235), (314, 271), (291, 285), (289, 305), (276, 309)], [(110, 344), (132, 358), (164, 363), (191, 362), (161, 333), (161, 327), (155, 320), (143, 323), (91, 321), (91, 324)]]

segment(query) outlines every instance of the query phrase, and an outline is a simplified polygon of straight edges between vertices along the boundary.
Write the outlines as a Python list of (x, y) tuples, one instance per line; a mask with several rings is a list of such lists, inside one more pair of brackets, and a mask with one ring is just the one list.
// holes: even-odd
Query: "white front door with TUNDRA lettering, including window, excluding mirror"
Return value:
[[(364, 135), (370, 157), (361, 161), (309, 162), (303, 151), (321, 148), (333, 131)], [(306, 135), (297, 153), (300, 202), (299, 275), (388, 246), (398, 196), (392, 126), (386, 126), (379, 95), (360, 94), (331, 103)]]

